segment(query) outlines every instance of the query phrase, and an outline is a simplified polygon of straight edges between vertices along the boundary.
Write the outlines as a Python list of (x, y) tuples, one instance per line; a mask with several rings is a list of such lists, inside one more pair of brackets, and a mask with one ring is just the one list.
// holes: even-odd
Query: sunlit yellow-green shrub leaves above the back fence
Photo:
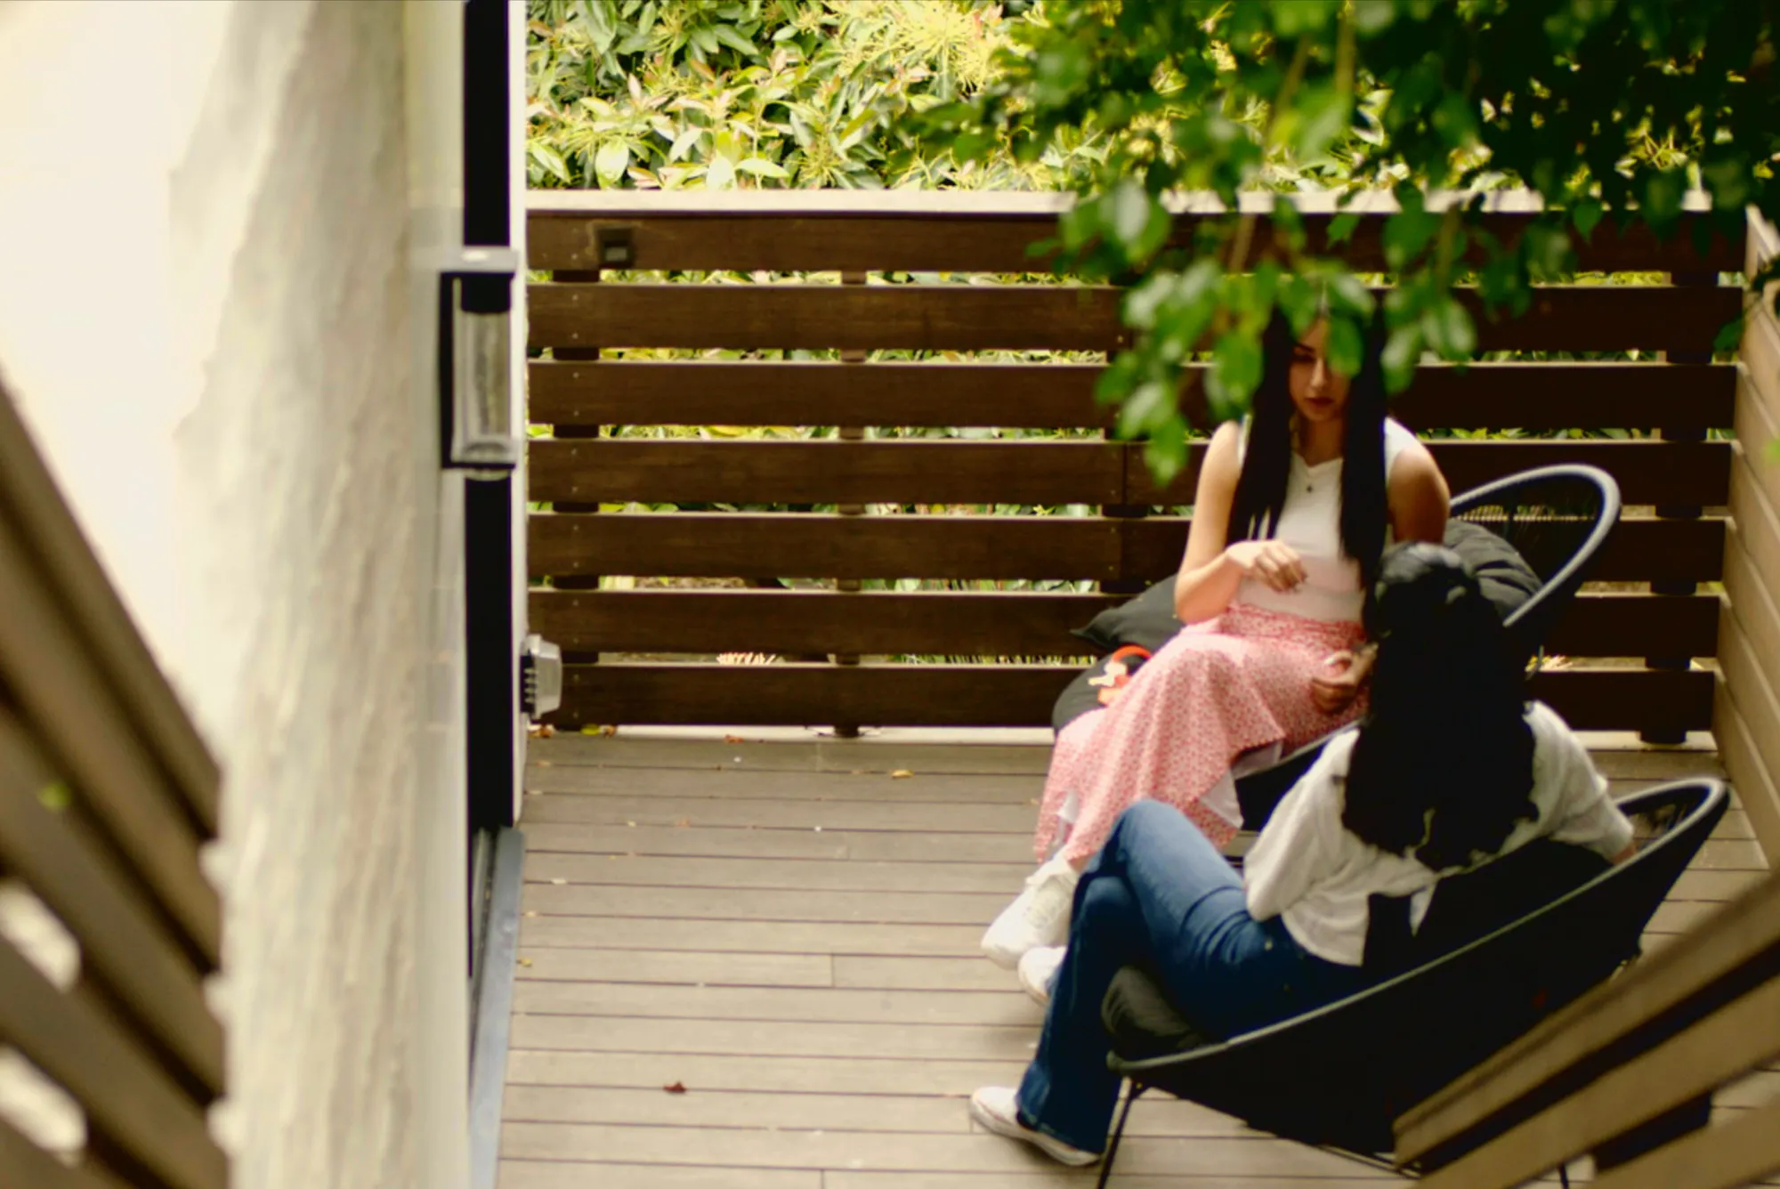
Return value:
[[(1015, 5), (1009, 5), (1015, 7)], [(1018, 5), (1025, 11), (1025, 5)], [(530, 0), (534, 187), (965, 187), (1088, 183), (1059, 132), (963, 166), (910, 114), (968, 98), (1031, 23), (970, 0)]]

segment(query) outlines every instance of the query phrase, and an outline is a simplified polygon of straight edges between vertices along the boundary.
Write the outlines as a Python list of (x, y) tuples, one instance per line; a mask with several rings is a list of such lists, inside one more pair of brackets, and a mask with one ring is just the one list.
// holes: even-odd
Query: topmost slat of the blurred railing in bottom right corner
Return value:
[(1597, 986), (1513, 1045), (1456, 1079), (1396, 1123), (1397, 1159), (1417, 1161), (1536, 1096), (1570, 1066), (1638, 1038), (1687, 1009), (1732, 972), (1780, 947), (1780, 876), (1769, 876), (1712, 920)]

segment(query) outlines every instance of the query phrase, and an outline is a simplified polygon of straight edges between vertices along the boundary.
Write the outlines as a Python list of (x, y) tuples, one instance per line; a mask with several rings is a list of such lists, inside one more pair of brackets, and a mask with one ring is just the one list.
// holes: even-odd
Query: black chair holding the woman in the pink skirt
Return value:
[[(1451, 520), (1502, 538), (1538, 577), (1538, 591), (1502, 619), (1515, 659), (1525, 664), (1540, 653), (1613, 536), (1620, 522), (1620, 484), (1595, 466), (1541, 466), (1454, 497)], [(1273, 806), (1337, 733), (1298, 748), (1264, 771), (1237, 778), (1244, 829), (1260, 829), (1267, 822)]]

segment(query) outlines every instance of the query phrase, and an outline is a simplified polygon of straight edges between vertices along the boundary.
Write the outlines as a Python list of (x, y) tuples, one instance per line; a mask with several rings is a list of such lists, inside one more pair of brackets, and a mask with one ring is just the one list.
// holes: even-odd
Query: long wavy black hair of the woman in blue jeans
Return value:
[(1495, 607), (1458, 554), (1413, 541), (1380, 559), (1365, 627), (1378, 666), (1342, 824), (1435, 870), (1495, 854), (1538, 815), (1525, 685)]

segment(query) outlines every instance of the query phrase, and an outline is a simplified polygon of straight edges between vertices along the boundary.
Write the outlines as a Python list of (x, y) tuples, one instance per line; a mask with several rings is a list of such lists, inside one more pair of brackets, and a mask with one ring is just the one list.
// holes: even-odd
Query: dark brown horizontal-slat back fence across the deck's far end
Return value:
[[(530, 420), (554, 427), (530, 449), (530, 500), (552, 509), (530, 518), (530, 575), (539, 584), (530, 621), (571, 660), (557, 721), (1048, 721), (1075, 671), (1066, 659), (1082, 653), (1068, 630), (1178, 564), (1187, 520), (1173, 513), (1191, 500), (1198, 461), (1194, 452), (1194, 465), (1159, 489), (1139, 445), (1086, 440), (1111, 424), (1093, 400), (1096, 361), (974, 358), (1105, 352), (1123, 342), (1114, 288), (1050, 278), (967, 283), (965, 274), (1041, 269), (1029, 244), (1054, 233), (1059, 201), (968, 192), (530, 196), (530, 267), (554, 278), (529, 292)], [(1307, 212), (1312, 242), (1328, 219), (1326, 208)], [(1518, 196), (1488, 215), (1504, 237), (1525, 219)], [(1344, 247), (1356, 267), (1383, 269), (1381, 221), (1380, 212), (1365, 215)], [(1177, 221), (1182, 242), (1193, 222), (1191, 212)], [(1732, 447), (1707, 440), (1707, 431), (1730, 425), (1737, 370), (1712, 363), (1711, 345), (1737, 315), (1737, 288), (1716, 281), (1743, 267), (1743, 249), (1714, 239), (1702, 256), (1691, 226), (1659, 244), (1648, 231), (1604, 224), (1582, 247), (1581, 267), (1622, 276), (1541, 288), (1524, 319), (1481, 320), (1481, 347), (1638, 351), (1636, 361), (1424, 367), (1394, 406), (1415, 429), (1661, 431), (1638, 440), (1431, 443), (1454, 489), (1547, 463), (1593, 463), (1622, 484), (1629, 516), (1593, 577), (1639, 586), (1577, 600), (1549, 641), (1572, 664), (1536, 678), (1538, 694), (1579, 728), (1673, 737), (1712, 723), (1714, 678), (1691, 660), (1718, 648), (1718, 598), (1696, 593), (1696, 584), (1721, 577), (1725, 520), (1714, 509), (1730, 495)], [(774, 276), (659, 276), (676, 271)], [(833, 285), (792, 276), (808, 272), (945, 278)], [(1648, 276), (1623, 276), (1630, 272), (1668, 278), (1645, 283)], [(675, 354), (639, 360), (628, 347)], [(776, 358), (869, 349), (929, 358)], [(1666, 363), (1657, 352), (1689, 361)], [(977, 436), (614, 434), (639, 425), (878, 425)], [(984, 429), (1082, 433), (993, 440)], [(616, 511), (650, 504), (837, 511)], [(842, 514), (870, 504), (904, 511)], [(967, 506), (1086, 506), (1089, 514), (997, 516)], [(598, 575), (724, 578), (756, 589), (600, 589)], [(837, 589), (858, 578), (1070, 580), (1098, 589)], [(828, 589), (758, 589), (783, 580)], [(710, 664), (721, 651), (783, 662)], [(602, 653), (705, 660), (593, 664)], [(867, 662), (826, 664), (831, 655)], [(872, 662), (899, 655), (970, 660)], [(997, 657), (1054, 660), (979, 660)]]

